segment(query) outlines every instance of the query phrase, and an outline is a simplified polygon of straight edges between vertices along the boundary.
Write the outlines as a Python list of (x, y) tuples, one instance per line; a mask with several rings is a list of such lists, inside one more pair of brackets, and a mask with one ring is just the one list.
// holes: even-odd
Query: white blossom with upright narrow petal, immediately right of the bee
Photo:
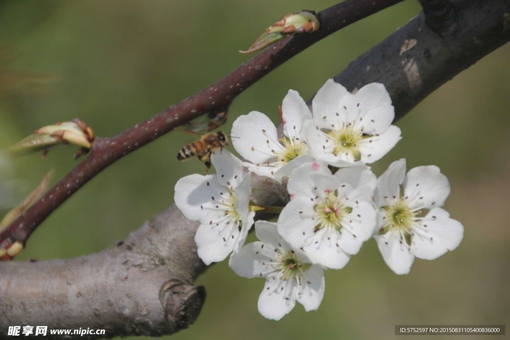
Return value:
[(290, 175), (292, 169), (313, 159), (301, 133), (301, 127), (312, 119), (312, 113), (299, 93), (289, 90), (282, 103), (284, 136), (263, 113), (252, 111), (240, 116), (232, 125), (232, 144), (254, 173), (273, 179)]

